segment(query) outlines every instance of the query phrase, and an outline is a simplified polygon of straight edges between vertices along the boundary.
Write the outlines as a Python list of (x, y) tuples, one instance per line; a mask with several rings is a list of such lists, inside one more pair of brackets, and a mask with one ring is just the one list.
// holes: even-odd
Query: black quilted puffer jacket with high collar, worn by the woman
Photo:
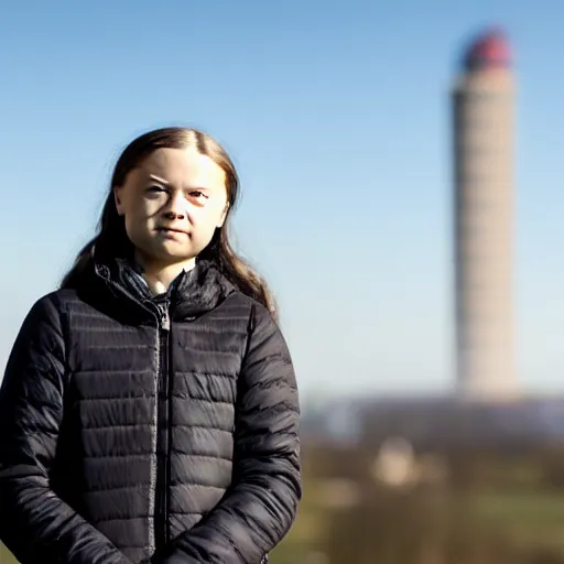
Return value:
[(153, 299), (123, 263), (41, 299), (0, 392), (0, 539), (23, 564), (258, 564), (301, 497), (270, 313), (209, 263)]

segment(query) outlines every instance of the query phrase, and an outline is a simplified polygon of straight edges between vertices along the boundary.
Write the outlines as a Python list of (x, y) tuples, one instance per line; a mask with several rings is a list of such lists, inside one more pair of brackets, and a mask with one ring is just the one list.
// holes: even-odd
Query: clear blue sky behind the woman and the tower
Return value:
[(239, 167), (237, 240), (279, 295), (304, 398), (448, 389), (448, 91), (469, 37), (500, 23), (519, 80), (519, 376), (564, 391), (561, 0), (4, 4), (0, 364), (91, 235), (120, 149), (180, 123)]

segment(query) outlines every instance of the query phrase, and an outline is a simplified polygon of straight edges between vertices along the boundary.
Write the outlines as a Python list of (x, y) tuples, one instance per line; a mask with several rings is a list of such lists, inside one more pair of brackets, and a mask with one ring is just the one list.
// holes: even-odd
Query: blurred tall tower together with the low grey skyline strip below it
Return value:
[[(473, 37), (452, 94), (456, 375), (442, 397), (334, 400), (306, 437), (381, 447), (511, 447), (564, 440), (564, 398), (521, 393), (513, 350), (514, 77), (500, 29)], [(395, 444), (395, 443), (394, 443)], [(402, 443), (403, 444), (403, 443)]]

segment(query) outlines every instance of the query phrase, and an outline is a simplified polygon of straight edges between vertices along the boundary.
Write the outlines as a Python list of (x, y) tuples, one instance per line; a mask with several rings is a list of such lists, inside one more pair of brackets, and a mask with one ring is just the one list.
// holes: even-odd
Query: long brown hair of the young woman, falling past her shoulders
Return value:
[(224, 275), (243, 294), (257, 300), (275, 315), (275, 302), (267, 285), (250, 265), (237, 256), (229, 242), (228, 220), (239, 195), (239, 177), (235, 165), (224, 150), (210, 135), (196, 129), (163, 128), (149, 131), (134, 139), (121, 153), (111, 177), (110, 189), (97, 235), (80, 250), (74, 265), (64, 276), (62, 288), (76, 288), (83, 273), (95, 260), (131, 258), (133, 245), (127, 232), (123, 217), (118, 214), (113, 189), (126, 182), (127, 175), (158, 149), (195, 148), (200, 154), (209, 156), (226, 174), (226, 188), (229, 208), (224, 226), (216, 229), (209, 245), (199, 253), (200, 259), (213, 260)]

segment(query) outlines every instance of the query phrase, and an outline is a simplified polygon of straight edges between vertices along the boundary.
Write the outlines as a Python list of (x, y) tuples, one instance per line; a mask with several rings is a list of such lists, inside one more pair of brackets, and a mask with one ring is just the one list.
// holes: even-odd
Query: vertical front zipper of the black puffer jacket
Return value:
[[(160, 441), (159, 436), (161, 430), (159, 426), (159, 412), (161, 406), (161, 393), (164, 393), (166, 399), (165, 405), (170, 402), (169, 398), (169, 333), (171, 330), (171, 318), (169, 315), (169, 302), (158, 304), (159, 324), (156, 332), (156, 370), (155, 370), (155, 408), (153, 420), (153, 436), (152, 436), (152, 451), (151, 458), (151, 489), (149, 498), (149, 511), (152, 516), (152, 527), (149, 530), (149, 540), (151, 551), (158, 551), (166, 543), (166, 522), (167, 522), (167, 460), (169, 460), (169, 445), (165, 445), (163, 459), (159, 459)], [(170, 427), (170, 421), (167, 424)], [(169, 432), (166, 432), (169, 433)], [(169, 443), (169, 437), (166, 443)], [(162, 463), (162, 464), (160, 464)], [(161, 468), (159, 467), (161, 466)], [(159, 478), (163, 480), (159, 485)]]

